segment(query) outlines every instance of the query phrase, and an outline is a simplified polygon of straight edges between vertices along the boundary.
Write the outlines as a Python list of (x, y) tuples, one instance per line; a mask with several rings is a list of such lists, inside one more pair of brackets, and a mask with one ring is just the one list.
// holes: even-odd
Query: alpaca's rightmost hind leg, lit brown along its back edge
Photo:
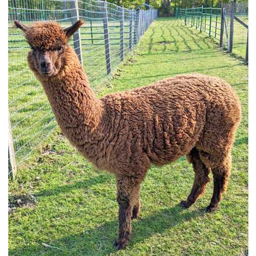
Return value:
[(214, 211), (218, 208), (222, 199), (222, 193), (225, 193), (227, 189), (227, 183), (231, 173), (231, 154), (229, 153), (216, 167), (212, 167), (211, 172), (214, 176), (214, 193), (210, 204), (206, 207), (207, 211)]

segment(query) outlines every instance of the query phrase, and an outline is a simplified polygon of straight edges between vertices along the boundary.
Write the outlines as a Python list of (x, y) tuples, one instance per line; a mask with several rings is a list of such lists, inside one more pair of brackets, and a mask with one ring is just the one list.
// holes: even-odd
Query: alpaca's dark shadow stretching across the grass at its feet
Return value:
[[(141, 213), (142, 217), (132, 221), (133, 231), (130, 244), (127, 246), (127, 252), (155, 234), (164, 233), (167, 229), (204, 215), (203, 211), (188, 211), (180, 207), (179, 204), (174, 207), (160, 209), (146, 217), (143, 217), (142, 205)], [(12, 249), (9, 251), (9, 255), (20, 255), (21, 251), (22, 255), (42, 255), (45, 253), (47, 255), (106, 255), (117, 252), (112, 245), (117, 232), (118, 219), (115, 218), (113, 221), (85, 230), (83, 233), (72, 233), (72, 230), (70, 230), (68, 236), (59, 234), (59, 239), (55, 241), (36, 241), (37, 244)], [(44, 247), (41, 243), (58, 247), (61, 250)]]

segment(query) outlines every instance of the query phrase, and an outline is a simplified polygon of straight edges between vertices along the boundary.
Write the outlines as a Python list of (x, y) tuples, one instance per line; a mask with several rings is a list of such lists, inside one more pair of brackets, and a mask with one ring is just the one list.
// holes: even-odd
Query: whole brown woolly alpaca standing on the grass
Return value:
[(192, 74), (98, 99), (68, 44), (82, 24), (78, 20), (63, 30), (53, 22), (26, 27), (15, 21), (32, 48), (30, 69), (42, 83), (63, 134), (86, 159), (116, 177), (117, 249), (129, 243), (131, 218), (140, 212), (140, 185), (151, 164), (161, 166), (184, 155), (193, 164), (195, 181), (183, 207), (203, 195), (211, 171), (214, 194), (207, 210), (216, 210), (227, 188), (241, 119), (236, 92), (218, 77)]

